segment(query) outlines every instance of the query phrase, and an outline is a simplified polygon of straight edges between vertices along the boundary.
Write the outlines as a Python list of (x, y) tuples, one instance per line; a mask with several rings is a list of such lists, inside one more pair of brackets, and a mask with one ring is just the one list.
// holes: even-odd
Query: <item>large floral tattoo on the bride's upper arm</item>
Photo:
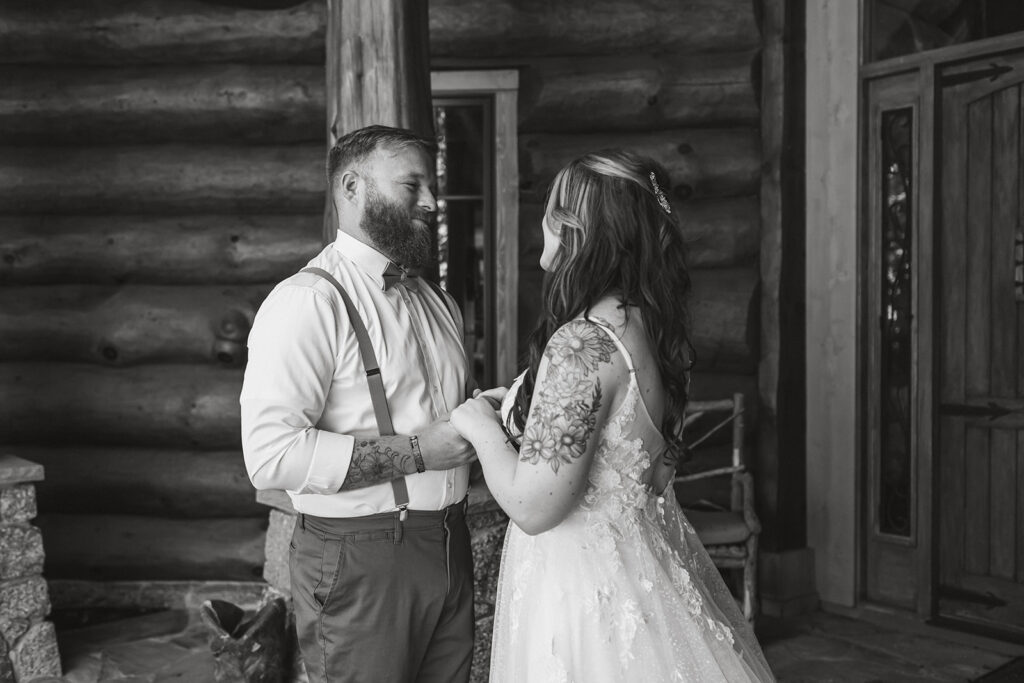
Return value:
[(557, 474), (587, 452), (601, 408), (596, 371), (610, 362), (614, 350), (607, 334), (585, 321), (573, 321), (552, 335), (544, 351), (548, 375), (530, 409), (520, 461), (547, 463)]

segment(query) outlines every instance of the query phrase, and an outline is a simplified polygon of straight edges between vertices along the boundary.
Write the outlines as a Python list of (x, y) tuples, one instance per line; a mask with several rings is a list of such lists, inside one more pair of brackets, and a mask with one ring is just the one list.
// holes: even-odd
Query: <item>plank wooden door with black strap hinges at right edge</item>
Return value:
[(938, 615), (1024, 638), (1024, 41), (936, 72)]

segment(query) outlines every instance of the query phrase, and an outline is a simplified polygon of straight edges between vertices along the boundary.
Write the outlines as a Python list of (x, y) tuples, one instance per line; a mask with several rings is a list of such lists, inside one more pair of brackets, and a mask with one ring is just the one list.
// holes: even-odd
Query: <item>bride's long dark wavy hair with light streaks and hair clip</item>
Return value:
[(660, 164), (622, 150), (585, 155), (555, 176), (545, 216), (559, 248), (544, 281), (544, 311), (529, 336), (529, 365), (510, 415), (520, 432), (551, 335), (613, 295), (624, 307), (640, 310), (666, 391), (662, 433), (674, 455), (682, 453), (694, 360), (686, 306), (690, 275), (682, 225), (660, 189), (668, 187)]

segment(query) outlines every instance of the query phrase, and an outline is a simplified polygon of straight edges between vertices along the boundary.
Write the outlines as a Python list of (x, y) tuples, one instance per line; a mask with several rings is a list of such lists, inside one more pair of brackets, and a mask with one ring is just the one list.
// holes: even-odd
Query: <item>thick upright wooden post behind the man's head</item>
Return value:
[[(433, 137), (427, 0), (328, 0), (328, 144), (382, 124)], [(337, 230), (328, 188), (324, 242)]]

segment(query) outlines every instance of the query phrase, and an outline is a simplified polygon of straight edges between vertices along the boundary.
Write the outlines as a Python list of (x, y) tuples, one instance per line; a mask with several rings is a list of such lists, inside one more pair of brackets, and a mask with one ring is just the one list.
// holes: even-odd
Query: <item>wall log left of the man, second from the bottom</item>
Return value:
[(40, 514), (266, 515), (239, 451), (10, 446), (5, 452), (46, 468), (46, 480), (36, 487)]

